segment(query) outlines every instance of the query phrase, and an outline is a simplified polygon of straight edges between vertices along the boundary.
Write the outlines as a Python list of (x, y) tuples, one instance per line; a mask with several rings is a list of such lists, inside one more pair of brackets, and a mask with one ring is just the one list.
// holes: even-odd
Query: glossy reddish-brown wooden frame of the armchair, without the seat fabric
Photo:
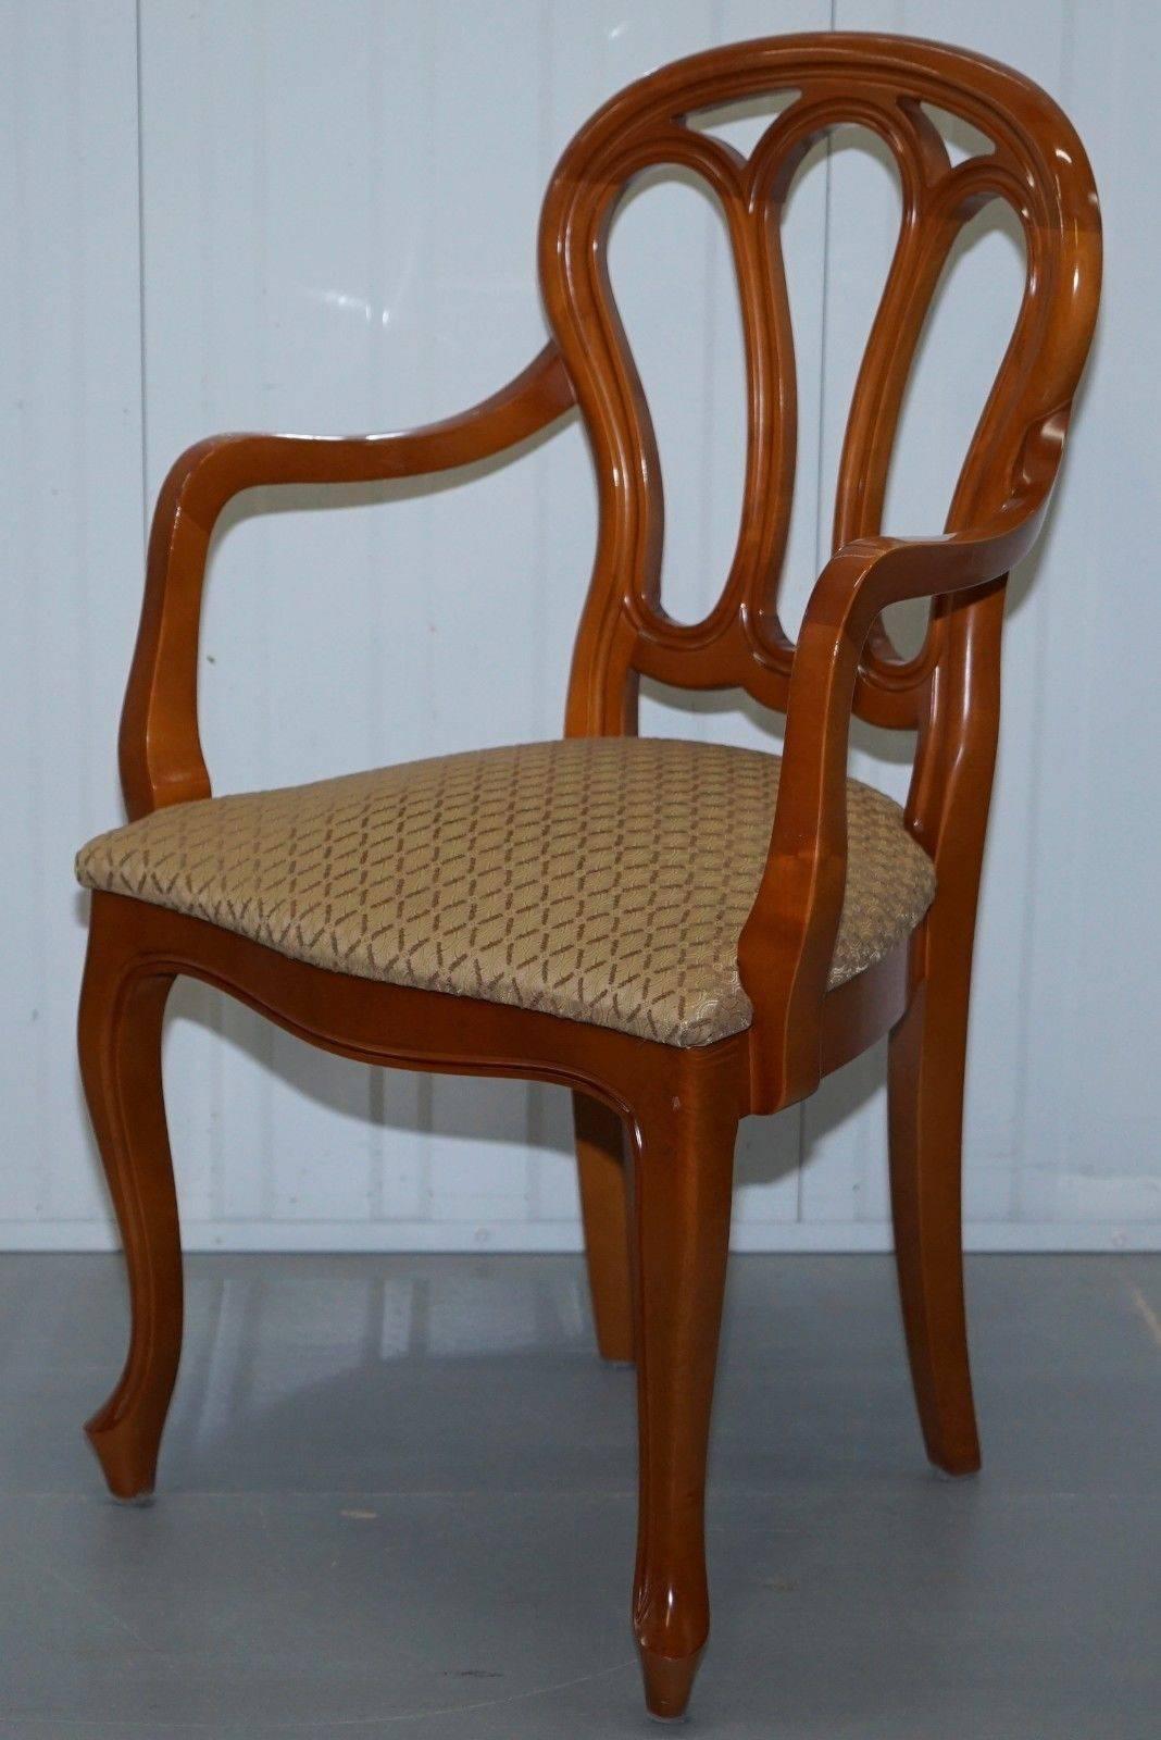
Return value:
[[(794, 92), (749, 158), (699, 111)], [(923, 104), (992, 150), (952, 165)], [(841, 454), (834, 557), (798, 644), (777, 616), (794, 475), (794, 357), (780, 207), (827, 127), (859, 122), (895, 155), (902, 226)], [(749, 411), (744, 512), (718, 604), (692, 626), (659, 590), (662, 485), (648, 409), (607, 271), (612, 214), (655, 164), (721, 202), (740, 285)], [(989, 198), (1018, 214), (1027, 282), (947, 515), (881, 536), (895, 425), (951, 245)], [(614, 97), (547, 190), (541, 278), (553, 339), (494, 398), (429, 428), (358, 438), (222, 435), (170, 472), (122, 719), (130, 816), (210, 795), (196, 715), (198, 621), (214, 524), (240, 491), (415, 477), (516, 447), (580, 405), (600, 485), (593, 579), (568, 691), (570, 734), (636, 729), (641, 675), (742, 687), (786, 712), (770, 854), (742, 931), (753, 1025), (678, 1049), (490, 1002), (346, 978), (118, 894), (96, 894), (80, 1054), (129, 1262), (132, 1340), (89, 1434), (111, 1489), (151, 1491), (181, 1345), (181, 1246), (160, 1034), (177, 974), (368, 1063), (520, 1075), (575, 1091), (577, 1157), (601, 1352), (634, 1359), (640, 1524), (633, 1627), (650, 1709), (685, 1709), (707, 1636), (702, 1502), (739, 1119), (812, 1093), (890, 1032), (895, 1242), (911, 1369), (932, 1460), (979, 1465), (959, 1234), (959, 1131), (980, 856), (999, 715), (1006, 572), (1031, 548), (1095, 320), (1100, 224), (1083, 148), (1057, 106), (996, 63), (907, 38), (784, 37), (674, 63)], [(918, 656), (881, 625), (933, 600)], [(845, 889), (852, 713), (918, 733), (907, 826), (937, 867), (909, 945), (827, 992)]]

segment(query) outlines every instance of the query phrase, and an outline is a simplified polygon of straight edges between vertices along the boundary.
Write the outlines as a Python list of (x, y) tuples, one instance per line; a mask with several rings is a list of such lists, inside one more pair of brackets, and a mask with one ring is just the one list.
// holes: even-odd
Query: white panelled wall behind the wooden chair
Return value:
[[(1048, 536), (1010, 588), (968, 1239), (1161, 1242), (1152, 0), (0, 0), (0, 1244), (115, 1239), (73, 1060), (71, 856), (122, 818), (116, 713), (146, 512), (172, 458), (219, 428), (398, 428), (483, 397), (544, 339), (537, 207), (584, 117), (674, 56), (827, 28), (1006, 59), (1062, 101), (1093, 158), (1102, 329)], [(721, 130), (747, 144), (765, 120)], [(897, 211), (893, 169), (853, 129), (791, 197), (791, 625), (827, 553)], [(690, 618), (725, 576), (742, 475), (737, 298), (704, 193), (683, 177), (634, 191), (612, 271), (659, 426), (666, 599)], [(979, 219), (925, 339), (888, 531), (942, 522), (1020, 273), (1012, 224)], [(466, 478), (242, 498), (203, 625), (216, 790), (558, 734), (593, 534), (575, 421)], [(652, 733), (777, 745), (777, 722), (732, 696), (650, 691), (643, 713)], [(909, 748), (860, 731), (853, 771), (902, 795)], [(876, 1051), (805, 1108), (744, 1126), (739, 1248), (886, 1244), (881, 1077)], [(370, 1072), (189, 983), (165, 1081), (191, 1246), (579, 1244), (563, 1091)]]

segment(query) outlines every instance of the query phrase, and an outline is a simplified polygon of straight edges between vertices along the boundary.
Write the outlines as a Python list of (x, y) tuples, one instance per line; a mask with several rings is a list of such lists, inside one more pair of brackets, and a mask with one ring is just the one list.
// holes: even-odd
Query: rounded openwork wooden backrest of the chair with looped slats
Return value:
[[(699, 111), (777, 92), (796, 96), (749, 158), (690, 125)], [(970, 122), (992, 150), (952, 165), (923, 104)], [(923, 320), (956, 235), (991, 198), (1006, 200), (1020, 219), (1027, 277), (945, 529), (989, 520), (1031, 487), (1029, 470), (1043, 487), (1052, 480), (1055, 459), (1045, 484), (1043, 463), (1031, 468), (1029, 454), (1046, 442), (1058, 451), (1100, 277), (1091, 172), (1057, 104), (994, 61), (900, 37), (775, 37), (660, 68), (580, 129), (553, 176), (541, 223), (547, 313), (577, 386), (600, 485), (596, 562), (568, 696), (574, 733), (633, 731), (640, 675), (680, 687), (742, 687), (768, 706), (786, 708), (794, 646), (779, 621), (777, 593), (794, 482), (796, 392), (780, 216), (803, 155), (829, 127), (848, 122), (872, 129), (890, 146), (902, 184), (902, 224), (853, 390), (834, 546), (881, 531), (892, 444)], [(657, 445), (607, 266), (614, 211), (629, 183), (657, 164), (693, 171), (721, 202), (746, 343), (739, 539), (716, 606), (693, 625), (674, 621), (660, 604)], [(954, 600), (935, 611), (926, 642), (911, 659), (902, 659), (876, 626), (855, 712), (881, 726), (921, 726), (933, 672), (951, 656), (956, 633), (966, 633), (966, 623), (949, 625), (954, 614)], [(998, 637), (989, 656), (998, 661)], [(984, 682), (994, 687), (987, 673)]]

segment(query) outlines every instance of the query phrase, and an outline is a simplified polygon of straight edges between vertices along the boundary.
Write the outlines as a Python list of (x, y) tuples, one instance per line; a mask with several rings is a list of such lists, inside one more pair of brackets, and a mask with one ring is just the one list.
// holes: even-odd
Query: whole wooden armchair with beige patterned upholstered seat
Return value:
[[(749, 158), (690, 117), (796, 92)], [(923, 104), (992, 151), (952, 167)], [(794, 472), (780, 209), (808, 146), (860, 122), (895, 155), (904, 216), (841, 454), (834, 555), (798, 646), (777, 581)], [(704, 621), (660, 606), (662, 489), (605, 244), (655, 164), (720, 198), (749, 371), (733, 566)], [(961, 224), (1006, 200), (1024, 228), (1017, 327), (947, 515), (879, 532), (916, 339)], [(965, 1340), (959, 1129), (980, 854), (996, 750), (1006, 572), (1031, 548), (1097, 311), (1100, 224), (1085, 151), (1006, 68), (935, 44), (805, 35), (680, 61), (620, 92), (544, 202), (553, 338), (494, 398), (403, 435), (221, 435), (170, 472), (149, 539), (120, 766), (130, 823), (90, 842), (80, 1056), (125, 1242), (132, 1342), (89, 1422), (108, 1484), (153, 1488), (181, 1343), (181, 1248), (162, 1101), (176, 974), (368, 1063), (563, 1082), (596, 1335), (636, 1359), (633, 1629), (650, 1710), (685, 1709), (707, 1636), (706, 1441), (739, 1119), (810, 1094), (890, 1039), (902, 1308), (928, 1455), (979, 1465)], [(441, 472), (513, 447), (577, 402), (600, 480), (567, 738), (210, 797), (198, 616), (222, 506), (257, 484)], [(881, 611), (933, 600), (918, 656)], [(786, 753), (636, 738), (638, 679), (740, 687), (786, 713)], [(848, 781), (852, 713), (918, 731), (906, 811)]]

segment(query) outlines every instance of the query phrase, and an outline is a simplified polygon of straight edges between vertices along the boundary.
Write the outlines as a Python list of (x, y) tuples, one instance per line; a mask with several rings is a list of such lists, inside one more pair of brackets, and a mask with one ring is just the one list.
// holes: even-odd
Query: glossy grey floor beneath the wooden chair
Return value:
[[(633, 1373), (574, 1258), (198, 1256), (149, 1509), (80, 1437), (116, 1258), (0, 1256), (3, 1740), (641, 1735)], [(1161, 1256), (970, 1263), (985, 1470), (885, 1258), (733, 1260), (692, 1723), (1161, 1735)]]

